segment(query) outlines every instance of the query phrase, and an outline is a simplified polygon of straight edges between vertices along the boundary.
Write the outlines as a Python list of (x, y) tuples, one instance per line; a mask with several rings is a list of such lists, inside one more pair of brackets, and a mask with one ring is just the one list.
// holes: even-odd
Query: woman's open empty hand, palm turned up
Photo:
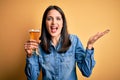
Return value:
[(90, 37), (87, 43), (87, 48), (88, 49), (92, 49), (93, 48), (93, 44), (102, 36), (104, 36), (105, 34), (107, 34), (110, 30), (107, 29), (103, 32), (98, 32), (97, 34), (95, 34), (94, 36)]

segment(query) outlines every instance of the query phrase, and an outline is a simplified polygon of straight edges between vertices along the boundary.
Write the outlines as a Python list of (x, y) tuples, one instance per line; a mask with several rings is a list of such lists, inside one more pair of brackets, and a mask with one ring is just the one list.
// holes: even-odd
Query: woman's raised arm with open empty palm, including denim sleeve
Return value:
[(81, 42), (77, 39), (77, 46), (76, 46), (76, 61), (78, 63), (78, 67), (81, 70), (82, 74), (86, 77), (89, 77), (92, 73), (92, 69), (95, 65), (94, 60), (94, 49), (93, 44), (102, 36), (107, 34), (110, 30), (107, 29), (103, 32), (99, 32), (94, 36), (90, 37), (87, 43), (87, 49), (84, 51)]

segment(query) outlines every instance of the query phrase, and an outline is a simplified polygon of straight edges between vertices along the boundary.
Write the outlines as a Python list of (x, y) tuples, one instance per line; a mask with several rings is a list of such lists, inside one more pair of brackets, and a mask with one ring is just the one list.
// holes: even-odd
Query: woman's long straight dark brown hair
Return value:
[(41, 29), (41, 36), (40, 36), (41, 46), (46, 53), (50, 53), (51, 35), (49, 34), (49, 32), (46, 29), (46, 17), (47, 17), (48, 12), (53, 9), (57, 10), (61, 14), (62, 19), (63, 19), (63, 28), (61, 30), (62, 46), (58, 52), (64, 53), (69, 49), (69, 47), (71, 45), (71, 41), (69, 39), (69, 34), (67, 31), (67, 22), (66, 22), (64, 12), (62, 11), (61, 8), (59, 8), (58, 6), (55, 6), (55, 5), (49, 6), (43, 14), (42, 29)]

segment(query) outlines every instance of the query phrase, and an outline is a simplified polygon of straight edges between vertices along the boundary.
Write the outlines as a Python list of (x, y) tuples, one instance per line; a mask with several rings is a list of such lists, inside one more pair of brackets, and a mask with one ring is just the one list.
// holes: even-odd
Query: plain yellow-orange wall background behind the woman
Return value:
[(68, 30), (84, 47), (90, 36), (110, 29), (95, 45), (96, 66), (89, 78), (120, 80), (120, 0), (0, 0), (0, 80), (26, 80), (24, 43), (28, 30), (40, 28), (44, 10), (58, 5), (65, 12)]

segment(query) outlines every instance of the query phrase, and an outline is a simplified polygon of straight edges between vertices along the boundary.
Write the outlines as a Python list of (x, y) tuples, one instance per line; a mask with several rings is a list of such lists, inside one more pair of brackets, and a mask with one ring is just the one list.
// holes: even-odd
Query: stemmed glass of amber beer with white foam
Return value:
[[(36, 40), (39, 43), (39, 37), (40, 37), (40, 30), (39, 29), (31, 29), (29, 30), (30, 34), (30, 40)], [(37, 55), (39, 55), (38, 50), (34, 50)]]

